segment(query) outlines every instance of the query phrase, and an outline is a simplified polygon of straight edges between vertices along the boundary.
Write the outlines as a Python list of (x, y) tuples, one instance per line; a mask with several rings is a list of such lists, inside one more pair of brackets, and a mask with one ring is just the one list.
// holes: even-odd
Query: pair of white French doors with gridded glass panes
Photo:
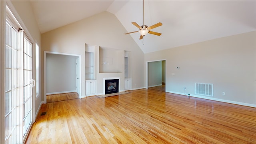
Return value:
[(5, 143), (23, 143), (32, 126), (32, 43), (6, 19), (5, 34)]

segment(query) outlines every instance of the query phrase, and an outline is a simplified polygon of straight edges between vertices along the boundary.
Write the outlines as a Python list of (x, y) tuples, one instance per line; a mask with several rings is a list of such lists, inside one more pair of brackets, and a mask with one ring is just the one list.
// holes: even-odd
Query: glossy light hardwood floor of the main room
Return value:
[(255, 144), (256, 108), (161, 92), (43, 104), (27, 144)]

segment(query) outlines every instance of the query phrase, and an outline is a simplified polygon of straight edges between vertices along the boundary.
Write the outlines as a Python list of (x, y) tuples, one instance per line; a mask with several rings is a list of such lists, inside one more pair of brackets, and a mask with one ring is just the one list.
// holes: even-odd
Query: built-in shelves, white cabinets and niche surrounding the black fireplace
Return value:
[[(98, 89), (97, 93), (96, 89), (101, 87), (99, 85), (102, 83), (102, 78), (120, 77), (120, 80), (124, 80), (120, 83), (124, 85), (119, 88), (132, 90), (132, 79), (129, 77), (129, 52), (85, 44), (85, 75), (86, 96), (95, 96), (101, 91)], [(100, 82), (98, 86), (96, 80)]]

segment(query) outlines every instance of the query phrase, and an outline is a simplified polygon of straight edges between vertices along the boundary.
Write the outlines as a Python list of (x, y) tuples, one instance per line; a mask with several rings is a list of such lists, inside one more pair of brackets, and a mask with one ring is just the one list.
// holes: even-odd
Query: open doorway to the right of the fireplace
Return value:
[(146, 84), (148, 89), (166, 92), (166, 60), (147, 62)]

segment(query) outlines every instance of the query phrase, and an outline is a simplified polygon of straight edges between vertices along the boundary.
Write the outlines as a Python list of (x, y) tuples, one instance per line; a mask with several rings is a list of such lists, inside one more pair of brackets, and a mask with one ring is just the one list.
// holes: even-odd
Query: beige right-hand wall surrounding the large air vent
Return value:
[[(166, 59), (166, 91), (256, 106), (256, 32), (145, 54)], [(177, 69), (176, 67), (180, 67)], [(213, 84), (214, 96), (195, 94), (195, 83)], [(225, 92), (225, 95), (222, 95)]]

